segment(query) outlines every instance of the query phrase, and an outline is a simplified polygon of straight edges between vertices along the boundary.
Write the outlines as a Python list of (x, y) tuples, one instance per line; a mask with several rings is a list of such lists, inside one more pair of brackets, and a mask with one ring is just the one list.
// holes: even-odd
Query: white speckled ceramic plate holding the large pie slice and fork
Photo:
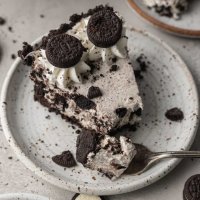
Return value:
[[(140, 128), (128, 135), (152, 151), (186, 150), (193, 143), (198, 126), (198, 95), (193, 78), (170, 47), (149, 33), (128, 30), (130, 58), (145, 54), (150, 62), (139, 81), (144, 101)], [(30, 68), (17, 59), (11, 66), (1, 96), (1, 121), (5, 136), (20, 160), (38, 176), (67, 190), (111, 195), (145, 187), (165, 176), (180, 160), (163, 161), (140, 176), (123, 175), (116, 181), (78, 164), (65, 169), (51, 157), (64, 150), (75, 154), (75, 130), (54, 113), (33, 100)], [(165, 111), (180, 107), (185, 119), (170, 122)], [(46, 119), (46, 116), (50, 116)]]

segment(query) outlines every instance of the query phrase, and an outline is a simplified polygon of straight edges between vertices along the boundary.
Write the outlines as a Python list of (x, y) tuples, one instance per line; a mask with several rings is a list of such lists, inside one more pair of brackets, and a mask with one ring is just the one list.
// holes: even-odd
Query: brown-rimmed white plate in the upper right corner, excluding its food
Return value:
[(200, 38), (200, 1), (190, 0), (188, 11), (179, 20), (161, 17), (153, 9), (148, 9), (143, 0), (128, 0), (128, 2), (142, 18), (154, 26), (179, 36)]

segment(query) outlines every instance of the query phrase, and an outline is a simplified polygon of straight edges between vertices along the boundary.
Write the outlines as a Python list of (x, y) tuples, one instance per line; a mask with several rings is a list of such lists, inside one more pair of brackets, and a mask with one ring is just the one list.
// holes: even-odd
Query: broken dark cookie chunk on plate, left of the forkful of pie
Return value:
[(52, 157), (52, 160), (62, 167), (76, 166), (76, 161), (70, 151), (64, 151), (61, 155)]

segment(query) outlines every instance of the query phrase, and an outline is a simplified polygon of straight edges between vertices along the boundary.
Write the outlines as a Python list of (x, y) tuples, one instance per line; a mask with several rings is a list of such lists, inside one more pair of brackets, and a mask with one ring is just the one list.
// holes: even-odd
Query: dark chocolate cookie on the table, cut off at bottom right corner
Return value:
[(200, 199), (200, 174), (191, 176), (185, 183), (183, 190), (184, 200)]

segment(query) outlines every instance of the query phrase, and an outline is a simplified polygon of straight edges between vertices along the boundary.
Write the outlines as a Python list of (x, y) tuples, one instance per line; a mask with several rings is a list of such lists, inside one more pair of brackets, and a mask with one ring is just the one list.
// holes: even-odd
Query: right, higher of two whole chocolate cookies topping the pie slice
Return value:
[(89, 40), (98, 47), (107, 48), (116, 44), (122, 33), (122, 21), (111, 10), (94, 13), (88, 22)]

